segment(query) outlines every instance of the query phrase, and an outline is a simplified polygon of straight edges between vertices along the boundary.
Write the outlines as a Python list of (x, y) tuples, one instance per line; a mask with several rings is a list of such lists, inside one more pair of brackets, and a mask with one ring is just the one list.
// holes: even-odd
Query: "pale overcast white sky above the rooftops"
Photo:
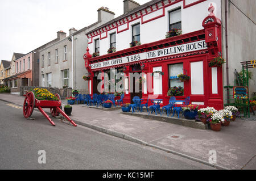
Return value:
[[(143, 5), (150, 0), (135, 0)], [(0, 0), (0, 60), (24, 53), (56, 39), (57, 31), (69, 35), (97, 22), (100, 7), (123, 14), (123, 0)]]

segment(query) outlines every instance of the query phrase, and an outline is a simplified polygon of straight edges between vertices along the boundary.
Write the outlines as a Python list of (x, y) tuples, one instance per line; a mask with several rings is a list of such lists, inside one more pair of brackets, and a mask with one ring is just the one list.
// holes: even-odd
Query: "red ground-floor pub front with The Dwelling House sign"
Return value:
[[(162, 7), (164, 6), (163, 4)], [(108, 72), (110, 69), (122, 69), (126, 77), (123, 99), (125, 103), (131, 103), (135, 95), (140, 96), (144, 101), (154, 95), (154, 98), (163, 99), (160, 105), (165, 106), (170, 99), (167, 95), (170, 87), (181, 86), (184, 95), (176, 96), (176, 99), (184, 100), (190, 96), (191, 104), (222, 109), (224, 107), (222, 67), (209, 67), (209, 62), (214, 57), (222, 55), (221, 20), (216, 18), (210, 8), (209, 15), (200, 20), (203, 21), (202, 29), (198, 31), (117, 50), (98, 57), (92, 57), (87, 48), (84, 60), (90, 77), (89, 94), (99, 94), (97, 86), (101, 80), (97, 79), (98, 74)], [(118, 27), (118, 24), (115, 25)], [(102, 28), (101, 31), (104, 30), (106, 29)], [(101, 31), (99, 31), (100, 36), (102, 36)], [(92, 38), (92, 44), (93, 36), (96, 35), (94, 32), (88, 35)], [(134, 80), (131, 80), (133, 77), (130, 77), (129, 73), (145, 73), (142, 75), (145, 81), (141, 82), (137, 93), (131, 90), (131, 87), (134, 87)], [(191, 79), (180, 82), (177, 79), (179, 73), (187, 74)]]

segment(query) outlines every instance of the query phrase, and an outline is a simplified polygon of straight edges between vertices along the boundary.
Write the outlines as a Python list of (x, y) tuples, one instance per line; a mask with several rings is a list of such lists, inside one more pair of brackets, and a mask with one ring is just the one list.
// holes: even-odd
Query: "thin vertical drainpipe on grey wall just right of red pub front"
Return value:
[[(225, 39), (226, 39), (226, 84), (229, 86), (229, 54), (228, 54), (228, 0), (225, 0)], [(228, 104), (230, 103), (228, 90)]]

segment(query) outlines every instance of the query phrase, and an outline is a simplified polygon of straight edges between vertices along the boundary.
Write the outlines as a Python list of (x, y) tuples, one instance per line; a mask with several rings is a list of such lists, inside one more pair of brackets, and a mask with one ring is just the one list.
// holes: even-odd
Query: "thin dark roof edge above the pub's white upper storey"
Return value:
[(137, 8), (135, 8), (135, 9), (129, 11), (129, 12), (126, 12), (126, 14), (123, 14), (123, 15), (121, 15), (121, 16), (118, 16), (118, 17), (115, 18), (115, 19), (112, 19), (112, 20), (110, 20), (109, 22), (107, 22), (107, 23), (105, 23), (105, 24), (102, 24), (102, 26), (97, 27), (97, 28), (93, 29), (92, 31), (89, 31), (89, 32), (86, 33), (86, 34), (88, 35), (89, 33), (92, 33), (93, 31), (100, 30), (101, 28), (107, 26), (108, 24), (112, 24), (112, 23), (114, 23), (114, 22), (117, 22), (118, 20), (123, 19), (123, 18), (125, 18), (126, 16), (132, 15), (132, 14), (134, 14), (135, 12), (141, 11), (141, 10), (143, 10), (143, 9), (145, 9), (145, 8), (147, 8), (147, 7), (150, 7), (150, 6), (152, 6), (152, 5), (154, 5), (155, 3), (158, 3), (158, 2), (160, 2), (160, 1), (162, 1), (162, 0), (152, 0), (152, 1), (150, 1), (150, 2), (144, 3), (143, 5), (137, 7)]

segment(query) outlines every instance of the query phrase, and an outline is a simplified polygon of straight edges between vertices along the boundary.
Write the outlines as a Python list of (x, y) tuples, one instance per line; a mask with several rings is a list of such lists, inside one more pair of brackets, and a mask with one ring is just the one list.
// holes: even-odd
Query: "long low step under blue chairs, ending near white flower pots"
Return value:
[(184, 127), (190, 127), (190, 128), (196, 128), (196, 129), (209, 129), (208, 125), (205, 125), (202, 122), (198, 122), (196, 120), (188, 120), (188, 119), (181, 119), (177, 117), (168, 117), (168, 116), (161, 116), (161, 115), (155, 115), (155, 114), (150, 114), (148, 115), (147, 112), (122, 112), (124, 115), (130, 115), (130, 116), (137, 116), (137, 117), (142, 117), (144, 119), (151, 119), (151, 120), (156, 120), (156, 121), (162, 121), (166, 123), (171, 123), (171, 124), (177, 124), (177, 125), (182, 125)]

